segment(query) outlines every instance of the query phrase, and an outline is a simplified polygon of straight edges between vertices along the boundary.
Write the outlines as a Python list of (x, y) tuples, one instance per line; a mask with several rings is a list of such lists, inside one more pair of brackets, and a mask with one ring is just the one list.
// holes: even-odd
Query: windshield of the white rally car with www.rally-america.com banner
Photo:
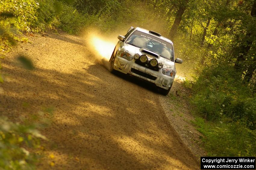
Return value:
[(161, 57), (167, 58), (173, 61), (173, 46), (162, 39), (155, 36), (151, 36), (144, 32), (135, 31), (127, 39), (127, 44), (136, 46), (138, 48), (144, 48), (159, 54)]

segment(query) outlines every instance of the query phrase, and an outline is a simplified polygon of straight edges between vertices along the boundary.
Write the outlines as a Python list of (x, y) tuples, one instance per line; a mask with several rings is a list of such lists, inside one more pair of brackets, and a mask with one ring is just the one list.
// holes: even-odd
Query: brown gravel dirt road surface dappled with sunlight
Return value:
[[(2, 60), (0, 85), (2, 115), (45, 124), (38, 169), (199, 169), (161, 107), (168, 96), (109, 73), (83, 38), (47, 34)], [(20, 54), (35, 70), (20, 66)]]

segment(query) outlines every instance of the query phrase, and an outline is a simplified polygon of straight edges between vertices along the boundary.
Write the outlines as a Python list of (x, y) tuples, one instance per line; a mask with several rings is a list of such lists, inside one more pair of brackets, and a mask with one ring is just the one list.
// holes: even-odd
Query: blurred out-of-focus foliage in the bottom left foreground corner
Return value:
[(33, 126), (0, 119), (0, 167), (3, 169), (35, 169), (38, 156), (31, 149), (46, 139)]

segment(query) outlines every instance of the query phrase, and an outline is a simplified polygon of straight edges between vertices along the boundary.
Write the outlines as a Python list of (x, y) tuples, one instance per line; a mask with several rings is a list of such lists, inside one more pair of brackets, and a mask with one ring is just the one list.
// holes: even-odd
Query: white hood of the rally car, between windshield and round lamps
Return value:
[[(152, 56), (152, 55), (150, 55), (146, 52), (142, 52), (142, 48), (138, 48), (138, 47), (135, 47), (133, 45), (124, 43), (123, 50), (125, 50), (126, 52), (128, 52), (132, 56), (134, 56), (134, 54), (139, 54), (139, 55), (146, 54), (148, 56), (148, 58), (150, 58), (150, 59), (155, 58), (155, 59), (157, 59), (158, 63), (163, 63), (164, 64), (163, 68), (170, 68), (170, 69), (173, 69), (173, 70), (175, 69), (173, 61), (168, 60), (168, 59), (166, 59), (164, 57), (161, 57), (159, 55), (158, 55), (158, 57), (155, 57), (155, 56)], [(147, 51), (149, 51), (149, 50), (147, 50)]]

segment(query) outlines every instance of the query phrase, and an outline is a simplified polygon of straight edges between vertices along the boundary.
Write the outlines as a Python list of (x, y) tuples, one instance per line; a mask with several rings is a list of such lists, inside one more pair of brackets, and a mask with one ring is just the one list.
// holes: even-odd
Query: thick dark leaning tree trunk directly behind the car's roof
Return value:
[(169, 32), (169, 36), (170, 36), (171, 39), (176, 35), (177, 29), (180, 26), (180, 21), (181, 21), (181, 18), (183, 16), (183, 14), (184, 14), (184, 11), (185, 11), (185, 9), (187, 7), (187, 4), (188, 4), (188, 0), (185, 0), (179, 6), (179, 9), (178, 9), (178, 11), (176, 13), (176, 17), (175, 17), (174, 23), (173, 23), (173, 25), (171, 27), (171, 30)]

